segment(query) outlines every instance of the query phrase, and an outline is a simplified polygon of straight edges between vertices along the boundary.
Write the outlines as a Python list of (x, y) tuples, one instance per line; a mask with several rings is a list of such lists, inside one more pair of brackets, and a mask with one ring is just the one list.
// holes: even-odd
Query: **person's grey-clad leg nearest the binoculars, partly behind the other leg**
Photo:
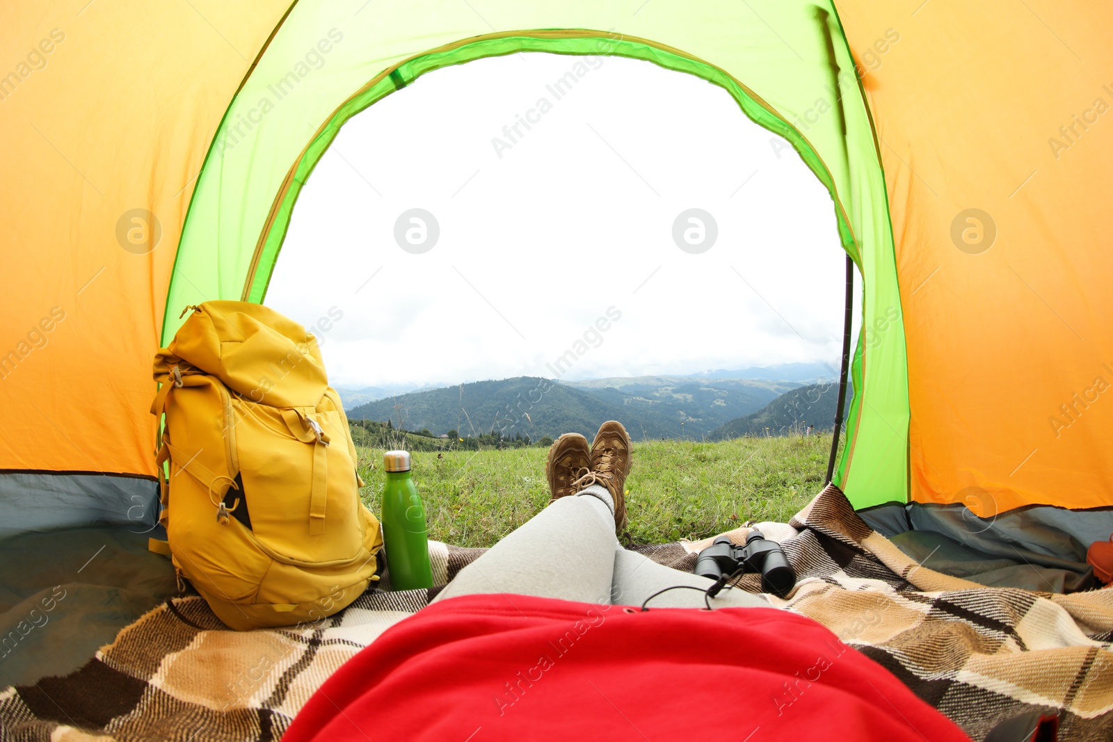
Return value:
[[(703, 592), (713, 581), (698, 574), (680, 572), (658, 564), (648, 556), (618, 546), (614, 551), (614, 577), (611, 602), (619, 605), (641, 606), (646, 598), (659, 590), (673, 585), (690, 585), (699, 590), (670, 590), (649, 602), (649, 609), (702, 609)], [(710, 600), (712, 609), (721, 607), (769, 607), (769, 603), (758, 595), (738, 588), (720, 592)]]

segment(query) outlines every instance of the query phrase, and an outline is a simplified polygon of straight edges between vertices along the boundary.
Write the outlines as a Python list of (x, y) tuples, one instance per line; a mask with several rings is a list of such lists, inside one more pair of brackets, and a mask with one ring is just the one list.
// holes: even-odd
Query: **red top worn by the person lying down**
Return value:
[(827, 629), (776, 609), (465, 595), (344, 664), (283, 742), (968, 738)]

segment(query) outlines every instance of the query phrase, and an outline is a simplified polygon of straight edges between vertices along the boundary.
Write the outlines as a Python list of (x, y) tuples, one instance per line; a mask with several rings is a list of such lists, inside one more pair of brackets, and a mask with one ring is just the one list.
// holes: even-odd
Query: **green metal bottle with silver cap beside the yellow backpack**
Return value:
[(429, 565), (429, 532), (425, 507), (410, 478), (410, 452), (383, 454), (386, 486), (383, 487), (383, 545), (394, 590), (433, 586)]

